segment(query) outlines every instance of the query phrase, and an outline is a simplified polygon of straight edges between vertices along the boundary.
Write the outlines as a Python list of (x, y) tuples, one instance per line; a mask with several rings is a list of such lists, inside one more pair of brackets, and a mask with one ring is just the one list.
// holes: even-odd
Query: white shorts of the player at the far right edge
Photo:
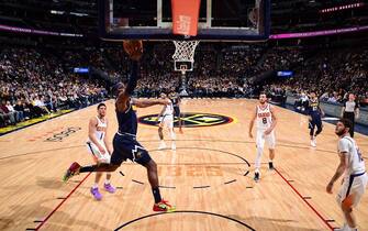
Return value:
[(367, 173), (360, 176), (358, 175), (359, 174), (350, 175), (344, 178), (344, 183), (336, 197), (338, 204), (342, 204), (349, 195), (354, 195), (353, 207), (356, 207), (359, 204), (364, 193), (366, 191), (368, 176)]

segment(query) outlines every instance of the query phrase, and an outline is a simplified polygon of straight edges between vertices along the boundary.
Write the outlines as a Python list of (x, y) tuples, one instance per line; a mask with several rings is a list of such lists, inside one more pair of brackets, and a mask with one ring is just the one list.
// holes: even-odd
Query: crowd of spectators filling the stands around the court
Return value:
[[(265, 89), (274, 96), (289, 92), (300, 97), (314, 90), (321, 100), (330, 102), (342, 102), (347, 92), (354, 92), (363, 106), (368, 105), (368, 48), (330, 48), (310, 55), (301, 47), (200, 44), (193, 72), (185, 78), (174, 72), (174, 51), (170, 42), (145, 47), (138, 97), (157, 97), (174, 89), (190, 97), (252, 97), (258, 75), (293, 70), (292, 78), (274, 79), (277, 84)], [(122, 45), (58, 51), (2, 47), (0, 127), (64, 108), (86, 107), (107, 97), (107, 87), (100, 80), (76, 75), (73, 67), (93, 67), (113, 82), (126, 78), (130, 61)]]

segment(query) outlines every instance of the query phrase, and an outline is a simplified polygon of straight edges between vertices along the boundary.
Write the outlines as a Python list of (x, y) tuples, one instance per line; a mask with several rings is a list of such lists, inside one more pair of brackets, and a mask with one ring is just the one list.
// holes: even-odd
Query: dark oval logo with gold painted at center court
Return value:
[[(147, 114), (138, 118), (138, 122), (146, 125), (155, 125), (159, 124), (157, 121), (158, 114)], [(199, 127), (213, 127), (213, 125), (222, 125), (233, 122), (233, 118), (222, 116), (222, 114), (212, 114), (212, 113), (196, 113), (196, 112), (187, 112), (181, 113), (181, 122), (186, 128), (199, 128)], [(175, 118), (174, 125), (178, 127), (178, 118)]]

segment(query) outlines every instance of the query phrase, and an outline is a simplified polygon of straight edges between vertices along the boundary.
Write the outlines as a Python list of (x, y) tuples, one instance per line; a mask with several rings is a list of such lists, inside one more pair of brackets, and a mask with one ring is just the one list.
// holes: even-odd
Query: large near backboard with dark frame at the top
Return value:
[[(188, 40), (172, 34), (171, 0), (98, 0), (102, 40)], [(200, 41), (263, 41), (270, 0), (201, 0)]]

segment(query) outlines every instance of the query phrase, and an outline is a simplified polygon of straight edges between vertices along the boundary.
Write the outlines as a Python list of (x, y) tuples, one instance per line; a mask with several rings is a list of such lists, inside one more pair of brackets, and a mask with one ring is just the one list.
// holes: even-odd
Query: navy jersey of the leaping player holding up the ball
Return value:
[(127, 103), (127, 109), (124, 112), (120, 112), (116, 110), (119, 132), (136, 135), (138, 127), (136, 113), (133, 110), (132, 102), (129, 101)]

